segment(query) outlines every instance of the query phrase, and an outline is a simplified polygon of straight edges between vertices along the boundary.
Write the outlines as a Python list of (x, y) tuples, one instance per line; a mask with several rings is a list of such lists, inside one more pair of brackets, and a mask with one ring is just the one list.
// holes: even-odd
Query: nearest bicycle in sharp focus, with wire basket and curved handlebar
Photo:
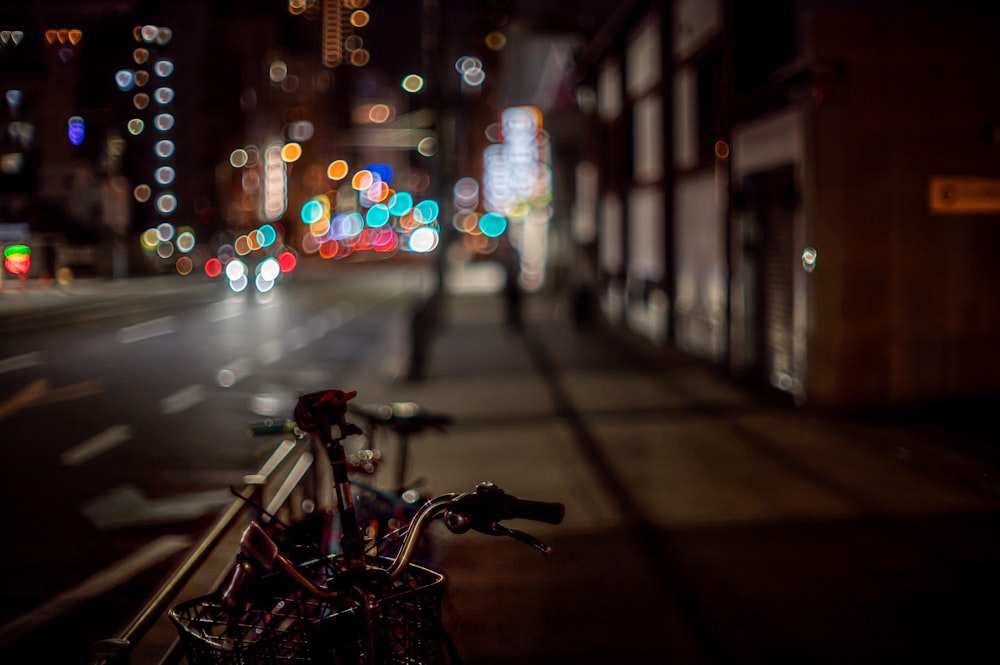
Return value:
[(342, 515), (342, 552), (295, 561), (251, 522), (226, 582), (169, 612), (191, 665), (445, 662), (441, 599), (447, 578), (412, 561), (427, 526), (441, 519), (453, 533), (507, 536), (551, 554), (534, 536), (501, 522), (559, 524), (565, 507), (520, 499), (492, 483), (427, 501), (394, 557), (367, 554), (343, 446), (344, 438), (357, 433), (346, 421), (353, 397), (339, 390), (304, 395), (295, 414), (298, 426), (326, 448)]

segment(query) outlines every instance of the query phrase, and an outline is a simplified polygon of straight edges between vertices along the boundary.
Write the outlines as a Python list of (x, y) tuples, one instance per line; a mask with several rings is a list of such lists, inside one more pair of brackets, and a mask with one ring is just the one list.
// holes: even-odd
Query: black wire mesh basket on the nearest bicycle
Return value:
[[(370, 563), (384, 565), (384, 560)], [(300, 570), (319, 582), (337, 574), (336, 561), (319, 560)], [(444, 576), (410, 565), (379, 599), (375, 639), (386, 664), (440, 663)], [(256, 580), (252, 600), (228, 608), (219, 594), (174, 607), (170, 619), (190, 665), (270, 665), (361, 660), (363, 614), (350, 593), (335, 599), (306, 594), (282, 573)]]

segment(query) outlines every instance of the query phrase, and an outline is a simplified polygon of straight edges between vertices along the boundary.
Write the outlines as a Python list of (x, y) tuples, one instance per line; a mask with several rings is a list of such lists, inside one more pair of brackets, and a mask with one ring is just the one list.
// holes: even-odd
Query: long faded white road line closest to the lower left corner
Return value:
[(147, 543), (121, 561), (87, 578), (72, 589), (60, 593), (34, 611), (22, 614), (0, 627), (0, 647), (7, 646), (81, 603), (111, 591), (139, 573), (167, 560), (190, 544), (190, 538), (178, 535), (160, 536)]

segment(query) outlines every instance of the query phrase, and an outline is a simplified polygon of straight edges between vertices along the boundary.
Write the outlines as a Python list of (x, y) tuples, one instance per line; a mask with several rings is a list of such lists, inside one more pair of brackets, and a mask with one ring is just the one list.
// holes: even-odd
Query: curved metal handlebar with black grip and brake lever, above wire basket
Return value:
[[(478, 531), (491, 536), (507, 536), (531, 545), (548, 556), (552, 549), (534, 536), (510, 529), (500, 524), (510, 519), (527, 519), (547, 524), (559, 524), (566, 513), (561, 503), (520, 499), (504, 492), (493, 483), (480, 483), (475, 491), (461, 494), (443, 494), (425, 503), (410, 522), (409, 531), (395, 559), (385, 569), (365, 568), (365, 572), (377, 574), (393, 581), (403, 574), (410, 564), (416, 546), (427, 525), (442, 517), (445, 525), (453, 533)], [(271, 540), (270, 536), (256, 522), (251, 522), (240, 539), (240, 555), (237, 565), (224, 585), (223, 602), (235, 602), (236, 594), (245, 578), (255, 570), (270, 572), (284, 571), (303, 589), (320, 598), (333, 598), (344, 592), (341, 588), (323, 588), (305, 577), (298, 567)]]

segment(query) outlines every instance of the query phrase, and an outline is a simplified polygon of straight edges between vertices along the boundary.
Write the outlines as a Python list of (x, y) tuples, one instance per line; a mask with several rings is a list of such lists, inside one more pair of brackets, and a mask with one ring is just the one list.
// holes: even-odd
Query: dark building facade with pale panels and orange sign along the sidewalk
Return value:
[(998, 28), (970, 3), (623, 6), (579, 59), (604, 316), (800, 402), (995, 394)]

